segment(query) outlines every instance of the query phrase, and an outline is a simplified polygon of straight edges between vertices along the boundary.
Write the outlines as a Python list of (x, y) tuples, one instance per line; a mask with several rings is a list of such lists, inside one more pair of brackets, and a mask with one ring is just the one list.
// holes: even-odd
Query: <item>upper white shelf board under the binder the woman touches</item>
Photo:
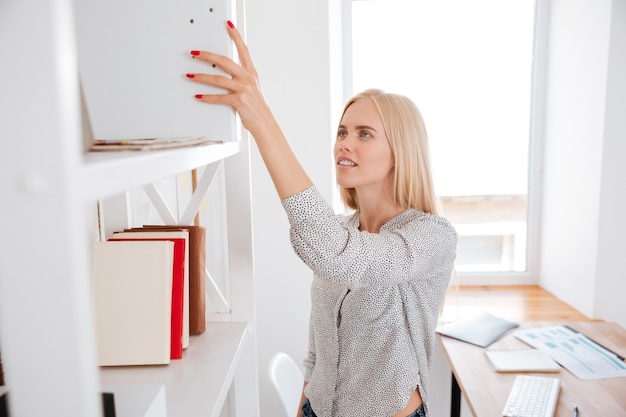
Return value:
[(240, 151), (241, 142), (224, 142), (154, 151), (88, 152), (79, 179), (81, 197), (86, 202), (108, 197)]

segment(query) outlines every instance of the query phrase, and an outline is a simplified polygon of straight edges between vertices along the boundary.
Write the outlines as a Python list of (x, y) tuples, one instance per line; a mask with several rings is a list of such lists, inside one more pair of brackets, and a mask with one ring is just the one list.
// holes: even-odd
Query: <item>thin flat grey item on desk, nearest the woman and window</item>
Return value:
[(443, 336), (487, 347), (518, 326), (517, 323), (489, 313), (478, 313), (447, 323), (436, 331)]

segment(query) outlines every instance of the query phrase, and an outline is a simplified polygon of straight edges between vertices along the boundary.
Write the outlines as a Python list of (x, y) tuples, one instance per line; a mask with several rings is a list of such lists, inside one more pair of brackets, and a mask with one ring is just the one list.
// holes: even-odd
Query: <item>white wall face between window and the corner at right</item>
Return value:
[(593, 309), (610, 0), (589, 3), (552, 2), (541, 257), (541, 284), (586, 315)]

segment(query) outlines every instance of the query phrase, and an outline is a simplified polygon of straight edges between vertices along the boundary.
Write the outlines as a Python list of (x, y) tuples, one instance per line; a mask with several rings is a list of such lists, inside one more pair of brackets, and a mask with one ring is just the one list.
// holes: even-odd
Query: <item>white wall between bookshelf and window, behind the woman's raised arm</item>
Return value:
[[(266, 99), (295, 154), (330, 199), (339, 116), (331, 115), (331, 109), (343, 103), (330, 92), (341, 67), (331, 63), (329, 54), (328, 3), (246, 0), (246, 30)], [(277, 351), (299, 364), (306, 355), (312, 273), (290, 246), (285, 213), (255, 147), (252, 202), (261, 415), (274, 417), (281, 414), (267, 365)]]

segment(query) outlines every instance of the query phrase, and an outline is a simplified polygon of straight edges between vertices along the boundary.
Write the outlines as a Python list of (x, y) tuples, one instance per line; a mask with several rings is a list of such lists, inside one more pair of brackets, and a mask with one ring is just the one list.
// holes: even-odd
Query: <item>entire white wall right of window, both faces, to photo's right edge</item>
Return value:
[(623, 9), (623, 0), (552, 1), (540, 283), (590, 317), (626, 325), (616, 298), (626, 285)]

